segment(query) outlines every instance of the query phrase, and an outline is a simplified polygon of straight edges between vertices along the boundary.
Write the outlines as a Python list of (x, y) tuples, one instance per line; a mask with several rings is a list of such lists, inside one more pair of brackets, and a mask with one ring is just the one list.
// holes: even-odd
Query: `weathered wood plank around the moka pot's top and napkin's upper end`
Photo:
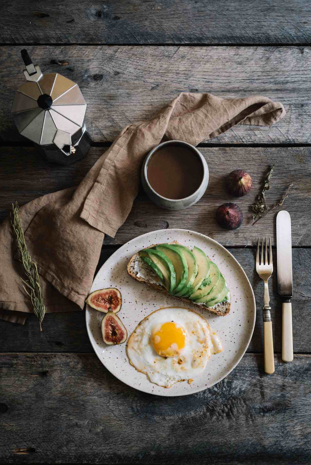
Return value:
[[(24, 82), (20, 46), (0, 47), (0, 140), (22, 140), (10, 115)], [(238, 125), (214, 143), (310, 143), (311, 47), (31, 46), (45, 73), (79, 83), (95, 140), (146, 120), (180, 92), (222, 97), (262, 94), (281, 101), (287, 115), (269, 127)], [(68, 62), (67, 66), (51, 60)]]

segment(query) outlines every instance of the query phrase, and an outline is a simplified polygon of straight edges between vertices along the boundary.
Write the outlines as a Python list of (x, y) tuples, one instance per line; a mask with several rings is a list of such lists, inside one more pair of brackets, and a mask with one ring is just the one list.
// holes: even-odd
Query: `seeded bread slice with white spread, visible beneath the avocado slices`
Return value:
[[(170, 242), (170, 244), (178, 244), (178, 242), (175, 240), (174, 242)], [(155, 247), (155, 245), (149, 246), (148, 248), (151, 247)], [(161, 284), (160, 279), (151, 270), (151, 268), (149, 268), (149, 266), (144, 263), (138, 252), (135, 253), (135, 255), (133, 255), (133, 257), (128, 262), (128, 274), (136, 281), (145, 283), (160, 292), (166, 292), (168, 294), (165, 287)], [(183, 300), (183, 302), (190, 303), (200, 308), (204, 308), (209, 312), (216, 313), (216, 315), (225, 316), (230, 312), (230, 292), (227, 301), (221, 302), (213, 307), (208, 307), (204, 304), (197, 304), (196, 302), (193, 302), (192, 300), (184, 297), (176, 297), (175, 295), (172, 295), (172, 297), (175, 299)]]

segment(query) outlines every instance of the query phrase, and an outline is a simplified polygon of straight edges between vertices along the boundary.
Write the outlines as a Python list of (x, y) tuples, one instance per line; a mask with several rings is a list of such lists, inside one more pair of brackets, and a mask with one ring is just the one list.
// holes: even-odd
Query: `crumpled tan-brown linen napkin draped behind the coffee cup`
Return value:
[[(21, 224), (47, 312), (83, 309), (104, 234), (114, 237), (124, 223), (138, 193), (142, 161), (164, 136), (197, 145), (236, 124), (269, 126), (284, 115), (281, 103), (262, 96), (181, 93), (151, 120), (124, 128), (76, 189), (22, 206)], [(0, 245), (0, 318), (24, 324), (32, 306), (22, 288), (9, 218), (0, 227)]]

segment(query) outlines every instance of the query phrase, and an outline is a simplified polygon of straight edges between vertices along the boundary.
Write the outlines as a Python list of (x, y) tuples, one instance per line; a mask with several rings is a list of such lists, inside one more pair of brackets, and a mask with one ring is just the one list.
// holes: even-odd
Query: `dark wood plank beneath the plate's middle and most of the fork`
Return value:
[[(116, 247), (103, 247), (100, 267), (115, 252)], [(255, 292), (257, 320), (248, 352), (262, 352), (263, 318), (262, 306), (264, 287), (255, 270), (255, 249), (230, 249), (243, 266)], [(281, 300), (277, 295), (276, 253), (274, 252), (275, 272), (269, 280), (270, 305), (275, 352), (281, 352)], [(305, 328), (311, 326), (311, 278), (310, 249), (293, 249), (293, 334), (294, 351), (311, 352), (310, 335)], [(121, 289), (122, 291), (122, 289)], [(126, 309), (124, 309), (126, 311)], [(124, 323), (126, 325), (126, 323)], [(43, 332), (38, 331), (38, 322), (30, 316), (25, 326), (14, 325), (0, 320), (2, 352), (93, 352), (85, 328), (84, 312), (47, 314), (43, 322)]]

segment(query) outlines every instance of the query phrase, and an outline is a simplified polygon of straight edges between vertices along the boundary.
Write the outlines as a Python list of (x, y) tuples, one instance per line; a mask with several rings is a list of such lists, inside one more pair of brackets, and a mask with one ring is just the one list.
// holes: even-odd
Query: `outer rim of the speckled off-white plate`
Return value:
[[(95, 346), (94, 346), (93, 341), (92, 341), (92, 339), (91, 339), (90, 330), (89, 330), (89, 327), (88, 327), (88, 320), (87, 320), (87, 315), (88, 315), (88, 310), (87, 310), (87, 308), (88, 308), (88, 307), (86, 307), (86, 309), (85, 309), (85, 323), (86, 323), (86, 328), (87, 328), (87, 333), (88, 333), (88, 339), (90, 340), (90, 343), (91, 343), (91, 345), (92, 345), (92, 347), (93, 347), (93, 350), (94, 350), (94, 352), (95, 352), (97, 358), (99, 359), (99, 361), (101, 362), (101, 364), (106, 368), (106, 370), (108, 370), (109, 373), (111, 373), (113, 376), (115, 376), (116, 379), (118, 379), (119, 381), (121, 381), (123, 384), (128, 385), (128, 386), (131, 387), (132, 389), (135, 389), (136, 391), (140, 391), (140, 392), (145, 392), (146, 394), (151, 394), (151, 395), (159, 396), (159, 397), (183, 397), (183, 396), (189, 396), (189, 395), (191, 395), (191, 394), (196, 394), (197, 392), (205, 391), (205, 389), (210, 389), (211, 387), (217, 385), (217, 384), (220, 383), (224, 378), (226, 378), (226, 377), (236, 368), (236, 366), (240, 363), (240, 361), (243, 359), (243, 357), (244, 357), (244, 355), (245, 355), (245, 353), (246, 353), (246, 351), (247, 351), (247, 349), (248, 349), (248, 346), (250, 345), (251, 338), (253, 337), (253, 332), (254, 332), (254, 328), (255, 328), (255, 324), (256, 324), (256, 300), (255, 300), (255, 294), (254, 294), (254, 291), (253, 291), (253, 287), (252, 287), (252, 285), (250, 284), (250, 280), (248, 279), (248, 276), (247, 276), (247, 274), (245, 273), (243, 267), (240, 265), (240, 263), (237, 261), (237, 259), (234, 257), (234, 255), (232, 255), (232, 253), (231, 253), (228, 249), (226, 249), (226, 247), (224, 247), (222, 244), (220, 244), (219, 242), (217, 242), (215, 239), (212, 239), (210, 236), (207, 236), (206, 234), (198, 233), (197, 231), (192, 231), (192, 230), (190, 230), (190, 229), (183, 229), (183, 228), (167, 228), (167, 229), (165, 229), (165, 230), (163, 230), (163, 229), (156, 229), (156, 230), (154, 230), (154, 231), (149, 231), (148, 233), (140, 234), (139, 236), (136, 236), (135, 238), (128, 240), (128, 242), (126, 242), (126, 243), (123, 244), (121, 247), (119, 247), (112, 255), (110, 255), (110, 257), (108, 258), (108, 260), (109, 260), (111, 257), (113, 257), (114, 254), (115, 254), (116, 252), (119, 252), (123, 247), (128, 246), (128, 244), (130, 244), (132, 241), (134, 241), (134, 240), (136, 240), (136, 239), (138, 239), (138, 238), (146, 237), (146, 236), (148, 236), (148, 235), (151, 234), (151, 233), (159, 233), (159, 232), (168, 231), (168, 230), (169, 230), (170, 232), (172, 232), (172, 231), (178, 231), (178, 232), (183, 232), (183, 233), (184, 233), (184, 232), (187, 232), (187, 233), (190, 233), (190, 234), (191, 234), (191, 233), (197, 234), (197, 235), (203, 237), (204, 239), (208, 239), (208, 240), (212, 241), (215, 245), (221, 247), (224, 251), (226, 251), (227, 253), (229, 253), (229, 255), (234, 259), (234, 261), (236, 262), (236, 264), (237, 264), (237, 265), (239, 266), (239, 268), (242, 270), (242, 272), (243, 272), (243, 274), (244, 274), (244, 276), (245, 276), (245, 278), (246, 278), (246, 281), (247, 281), (248, 285), (250, 286), (251, 297), (252, 297), (252, 303), (253, 303), (253, 308), (254, 308), (253, 324), (252, 324), (252, 328), (251, 328), (251, 331), (250, 331), (249, 339), (247, 340), (247, 342), (246, 342), (246, 344), (245, 344), (245, 350), (244, 350), (244, 352), (242, 353), (241, 357), (239, 357), (239, 359), (237, 359), (237, 362), (232, 366), (232, 368), (231, 368), (225, 375), (223, 375), (220, 379), (218, 379), (218, 381), (216, 381), (216, 383), (214, 383), (213, 385), (211, 385), (211, 386), (209, 386), (209, 387), (206, 387), (206, 388), (203, 388), (203, 389), (197, 389), (196, 391), (184, 392), (184, 393), (182, 393), (182, 394), (179, 394), (179, 393), (178, 393), (178, 394), (169, 394), (169, 393), (168, 393), (168, 394), (165, 394), (165, 395), (162, 395), (162, 394), (157, 393), (157, 392), (147, 392), (147, 391), (145, 391), (144, 389), (140, 389), (140, 388), (138, 388), (138, 387), (135, 387), (135, 386), (133, 386), (133, 385), (128, 384), (126, 381), (123, 381), (123, 379), (120, 379), (118, 376), (115, 375), (115, 373), (112, 373), (106, 365), (104, 365), (104, 363), (103, 363), (102, 360), (100, 359), (98, 353), (96, 352)], [(97, 273), (96, 273), (96, 275), (94, 276), (94, 279), (93, 279), (93, 281), (92, 281), (92, 284), (91, 284), (90, 289), (92, 288), (93, 283), (94, 283), (94, 281), (95, 281), (95, 279), (96, 279), (98, 273), (101, 271), (101, 268), (102, 268), (103, 266), (105, 266), (105, 264), (107, 263), (108, 260), (106, 260), (106, 262), (103, 263), (103, 264), (101, 265), (100, 269), (97, 271)], [(167, 391), (167, 390), (166, 390), (166, 391)]]

